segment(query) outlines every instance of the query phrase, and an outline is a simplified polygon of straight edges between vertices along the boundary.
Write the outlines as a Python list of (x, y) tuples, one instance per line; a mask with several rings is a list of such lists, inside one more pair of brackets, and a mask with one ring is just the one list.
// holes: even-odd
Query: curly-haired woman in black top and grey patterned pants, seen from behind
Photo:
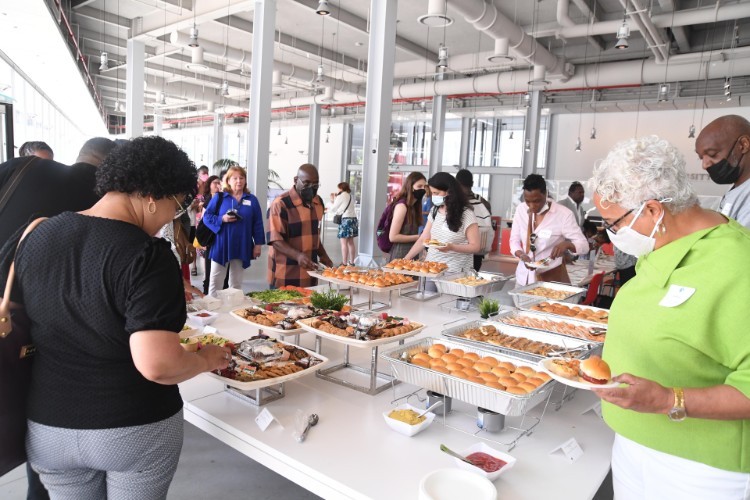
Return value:
[(229, 363), (227, 348), (181, 347), (180, 269), (154, 237), (195, 186), (174, 143), (134, 139), (99, 167), (96, 205), (45, 220), (18, 247), (14, 292), (37, 347), (26, 448), (52, 498), (165, 498), (182, 447), (177, 384)]

